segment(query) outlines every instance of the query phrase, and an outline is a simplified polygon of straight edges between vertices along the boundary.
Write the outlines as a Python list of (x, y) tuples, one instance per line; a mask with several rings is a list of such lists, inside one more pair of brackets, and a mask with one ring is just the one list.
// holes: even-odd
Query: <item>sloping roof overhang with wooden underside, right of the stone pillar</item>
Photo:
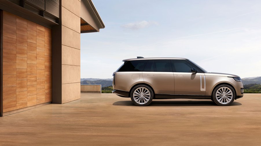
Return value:
[(81, 33), (99, 32), (105, 26), (91, 0), (81, 0)]

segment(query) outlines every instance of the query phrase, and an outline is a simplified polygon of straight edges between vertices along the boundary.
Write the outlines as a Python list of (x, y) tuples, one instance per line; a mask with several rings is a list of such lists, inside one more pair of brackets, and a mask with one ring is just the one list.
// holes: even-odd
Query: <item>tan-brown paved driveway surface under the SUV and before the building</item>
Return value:
[(0, 117), (0, 145), (260, 145), (261, 94), (231, 106), (82, 93), (81, 99)]

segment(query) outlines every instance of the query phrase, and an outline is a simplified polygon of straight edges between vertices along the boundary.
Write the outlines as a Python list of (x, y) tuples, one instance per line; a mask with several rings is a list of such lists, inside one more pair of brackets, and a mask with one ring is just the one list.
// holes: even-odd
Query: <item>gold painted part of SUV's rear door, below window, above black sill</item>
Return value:
[(173, 72), (142, 72), (144, 83), (149, 84), (155, 94), (174, 94)]

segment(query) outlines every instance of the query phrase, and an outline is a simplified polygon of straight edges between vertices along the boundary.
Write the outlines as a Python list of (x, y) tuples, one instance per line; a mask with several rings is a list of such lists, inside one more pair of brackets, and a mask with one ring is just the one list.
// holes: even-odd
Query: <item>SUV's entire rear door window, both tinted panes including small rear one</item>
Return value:
[(170, 60), (150, 60), (143, 71), (172, 72)]

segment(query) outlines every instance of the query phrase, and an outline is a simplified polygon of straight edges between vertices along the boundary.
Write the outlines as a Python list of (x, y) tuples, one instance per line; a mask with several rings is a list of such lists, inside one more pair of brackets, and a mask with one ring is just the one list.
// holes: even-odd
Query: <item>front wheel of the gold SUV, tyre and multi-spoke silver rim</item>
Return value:
[(213, 94), (213, 101), (219, 106), (228, 106), (234, 102), (236, 93), (229, 85), (219, 85), (215, 88)]

